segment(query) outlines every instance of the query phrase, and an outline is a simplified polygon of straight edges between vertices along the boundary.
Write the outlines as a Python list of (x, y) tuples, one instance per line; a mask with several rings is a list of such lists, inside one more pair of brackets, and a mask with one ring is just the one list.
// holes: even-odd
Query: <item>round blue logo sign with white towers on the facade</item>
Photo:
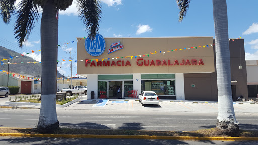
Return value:
[(103, 36), (96, 34), (96, 37), (91, 41), (90, 37), (85, 40), (85, 49), (91, 56), (101, 55), (106, 48), (106, 42)]

